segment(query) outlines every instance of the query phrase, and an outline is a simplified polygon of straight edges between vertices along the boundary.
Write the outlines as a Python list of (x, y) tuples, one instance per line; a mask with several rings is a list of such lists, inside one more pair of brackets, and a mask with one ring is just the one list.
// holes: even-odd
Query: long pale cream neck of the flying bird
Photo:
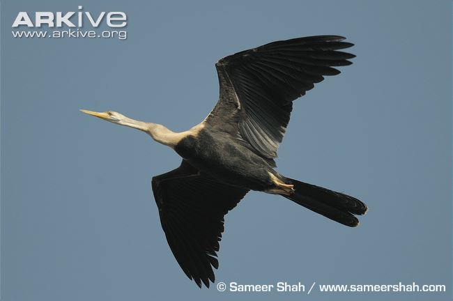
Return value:
[(125, 118), (118, 124), (128, 126), (130, 128), (136, 128), (137, 130), (141, 130), (146, 132), (153, 138), (155, 141), (158, 141), (160, 144), (164, 144), (166, 146), (170, 146), (174, 148), (176, 144), (178, 144), (181, 139), (192, 135), (197, 135), (198, 132), (204, 128), (204, 123), (199, 123), (195, 125), (190, 130), (184, 132), (173, 132), (168, 128), (164, 127), (164, 125), (160, 125), (157, 123), (146, 123), (143, 121), (136, 121), (132, 118)]

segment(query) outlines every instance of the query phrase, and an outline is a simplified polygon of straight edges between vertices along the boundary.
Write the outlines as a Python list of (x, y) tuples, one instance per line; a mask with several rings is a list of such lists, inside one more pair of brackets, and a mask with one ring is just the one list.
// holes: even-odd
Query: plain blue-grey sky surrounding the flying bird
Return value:
[[(124, 11), (128, 39), (15, 39), (19, 11)], [(1, 300), (450, 300), (450, 1), (1, 1)], [(89, 28), (89, 26), (88, 26)], [(295, 101), (279, 171), (369, 205), (350, 229), (279, 196), (226, 217), (217, 281), (445, 284), (447, 293), (200, 290), (160, 226), (151, 176), (180, 164), (112, 109), (186, 130), (214, 63), (337, 34), (353, 65)]]

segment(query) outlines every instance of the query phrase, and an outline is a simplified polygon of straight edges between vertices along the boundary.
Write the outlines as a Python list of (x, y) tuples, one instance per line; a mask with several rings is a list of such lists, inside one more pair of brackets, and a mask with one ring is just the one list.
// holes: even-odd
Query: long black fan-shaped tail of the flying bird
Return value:
[(346, 226), (358, 226), (359, 221), (354, 215), (363, 215), (368, 210), (365, 203), (353, 196), (291, 178), (286, 178), (285, 182), (294, 185), (292, 194), (281, 194), (286, 199)]

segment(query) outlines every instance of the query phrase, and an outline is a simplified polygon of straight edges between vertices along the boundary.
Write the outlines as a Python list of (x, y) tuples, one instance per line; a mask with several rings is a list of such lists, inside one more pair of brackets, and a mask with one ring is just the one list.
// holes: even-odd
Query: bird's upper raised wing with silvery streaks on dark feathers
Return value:
[(277, 41), (226, 56), (215, 64), (220, 82), (217, 105), (206, 118), (212, 128), (247, 141), (262, 157), (277, 157), (292, 101), (350, 65), (353, 46), (341, 36)]

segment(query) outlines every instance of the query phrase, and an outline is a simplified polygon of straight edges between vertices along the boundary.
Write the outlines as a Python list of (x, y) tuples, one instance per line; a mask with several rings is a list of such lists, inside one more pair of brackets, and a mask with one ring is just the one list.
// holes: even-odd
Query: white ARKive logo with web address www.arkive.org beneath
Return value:
[[(121, 11), (111, 11), (100, 13), (90, 13), (84, 11), (82, 6), (78, 6), (78, 11), (70, 12), (35, 12), (34, 15), (21, 11), (17, 13), (13, 29), (22, 31), (12, 31), (14, 38), (118, 38), (125, 40), (127, 33), (125, 30), (118, 31), (128, 25), (128, 16)], [(99, 26), (105, 25), (108, 31), (97, 32)], [(91, 26), (92, 30), (84, 30)], [(67, 28), (68, 30), (62, 30)], [(35, 30), (31, 30), (35, 29)], [(36, 29), (54, 29), (43, 31)]]

